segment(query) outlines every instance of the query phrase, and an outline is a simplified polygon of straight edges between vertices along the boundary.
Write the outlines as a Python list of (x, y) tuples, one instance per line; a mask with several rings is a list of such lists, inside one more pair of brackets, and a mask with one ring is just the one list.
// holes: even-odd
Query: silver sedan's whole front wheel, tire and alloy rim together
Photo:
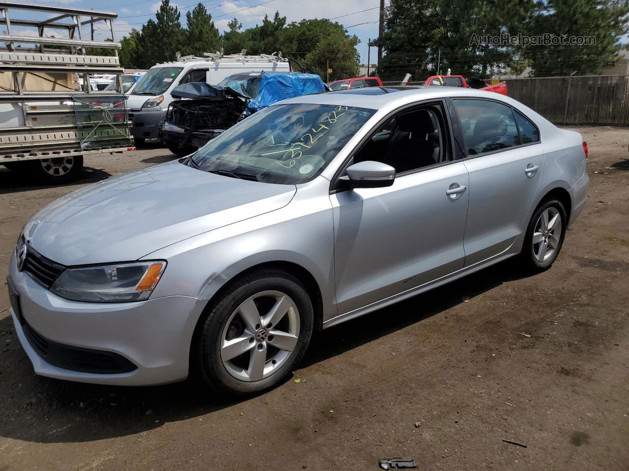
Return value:
[(298, 279), (259, 270), (231, 283), (199, 322), (192, 367), (218, 393), (257, 393), (294, 369), (312, 332), (312, 303)]

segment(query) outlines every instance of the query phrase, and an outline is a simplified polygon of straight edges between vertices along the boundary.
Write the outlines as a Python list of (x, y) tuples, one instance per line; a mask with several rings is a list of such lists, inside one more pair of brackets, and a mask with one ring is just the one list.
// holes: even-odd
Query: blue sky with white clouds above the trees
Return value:
[[(113, 11), (118, 14), (118, 19), (114, 20), (114, 26), (117, 33), (116, 40), (120, 40), (122, 36), (128, 35), (131, 28), (140, 30), (142, 24), (146, 23), (148, 19), (155, 19), (154, 13), (159, 8), (161, 0), (111, 0), (108, 2), (102, 0), (46, 0), (33, 3)], [(179, 8), (181, 23), (186, 26), (186, 12), (191, 11), (198, 0), (196, 3), (195, 0), (171, 0), (170, 3)], [(265, 14), (272, 18), (276, 11), (279, 11), (281, 16), (286, 16), (289, 23), (304, 18), (342, 16), (342, 18), (333, 21), (343, 24), (348, 28), (348, 33), (359, 37), (358, 50), (364, 63), (367, 62), (367, 41), (378, 35), (379, 0), (201, 0), (201, 3), (212, 14), (214, 24), (221, 33), (228, 29), (227, 23), (233, 18), (238, 18), (245, 29), (261, 24)], [(26, 18), (28, 14), (24, 16)], [(104, 35), (104, 31), (100, 31), (104, 30), (103, 23), (97, 25), (96, 29), (96, 37)], [(104, 36), (101, 36), (101, 39), (103, 38)], [(273, 51), (268, 52), (272, 53)], [(372, 63), (376, 63), (376, 57), (377, 48), (372, 48), (370, 56)]]

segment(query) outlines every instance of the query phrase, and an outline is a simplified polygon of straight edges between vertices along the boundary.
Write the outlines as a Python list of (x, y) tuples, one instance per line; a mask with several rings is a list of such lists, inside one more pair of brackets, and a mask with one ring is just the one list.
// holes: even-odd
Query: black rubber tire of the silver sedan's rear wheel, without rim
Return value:
[[(540, 218), (542, 217), (542, 214), (547, 210), (549, 214), (551, 212), (556, 212), (559, 215), (560, 217), (559, 223), (561, 224), (561, 227), (560, 227), (559, 237), (557, 237), (556, 233), (554, 234), (554, 236), (543, 237), (542, 242), (540, 242), (540, 244), (545, 244), (547, 243), (545, 241), (549, 241), (549, 243), (547, 243), (547, 246), (552, 249), (552, 253), (548, 254), (547, 259), (540, 261), (539, 259), (540, 257), (538, 256), (540, 254), (539, 252), (540, 245), (533, 243), (533, 236), (535, 236), (536, 233), (545, 234), (547, 232), (543, 230), (543, 228), (540, 226), (540, 224), (542, 223)], [(568, 221), (565, 214), (565, 208), (562, 202), (560, 202), (559, 200), (556, 200), (555, 198), (549, 198), (547, 200), (542, 201), (542, 203), (540, 203), (540, 205), (537, 207), (537, 209), (533, 213), (531, 220), (528, 222), (528, 227), (526, 227), (526, 237), (524, 239), (522, 251), (520, 252), (521, 261), (523, 262), (523, 265), (528, 271), (533, 271), (533, 272), (544, 271), (550, 268), (550, 266), (555, 262), (555, 260), (559, 256), (561, 247), (564, 244), (565, 229), (566, 229), (567, 222)], [(555, 247), (552, 247), (553, 245)]]

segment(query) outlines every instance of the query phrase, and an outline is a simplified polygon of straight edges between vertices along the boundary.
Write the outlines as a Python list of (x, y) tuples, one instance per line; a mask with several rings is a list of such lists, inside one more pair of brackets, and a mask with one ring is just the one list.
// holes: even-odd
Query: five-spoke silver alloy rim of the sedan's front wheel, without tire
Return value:
[(294, 352), (299, 311), (280, 291), (262, 291), (231, 313), (221, 335), (221, 361), (240, 381), (260, 381), (276, 372)]

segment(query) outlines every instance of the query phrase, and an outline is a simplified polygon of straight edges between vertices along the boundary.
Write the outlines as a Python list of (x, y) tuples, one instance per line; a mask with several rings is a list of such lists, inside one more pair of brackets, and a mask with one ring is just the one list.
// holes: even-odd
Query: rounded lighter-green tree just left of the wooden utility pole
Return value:
[(345, 31), (336, 31), (323, 36), (315, 48), (306, 55), (305, 65), (327, 80), (328, 64), (332, 69), (330, 81), (356, 77), (359, 73), (360, 55), (356, 50), (358, 36), (348, 36)]

